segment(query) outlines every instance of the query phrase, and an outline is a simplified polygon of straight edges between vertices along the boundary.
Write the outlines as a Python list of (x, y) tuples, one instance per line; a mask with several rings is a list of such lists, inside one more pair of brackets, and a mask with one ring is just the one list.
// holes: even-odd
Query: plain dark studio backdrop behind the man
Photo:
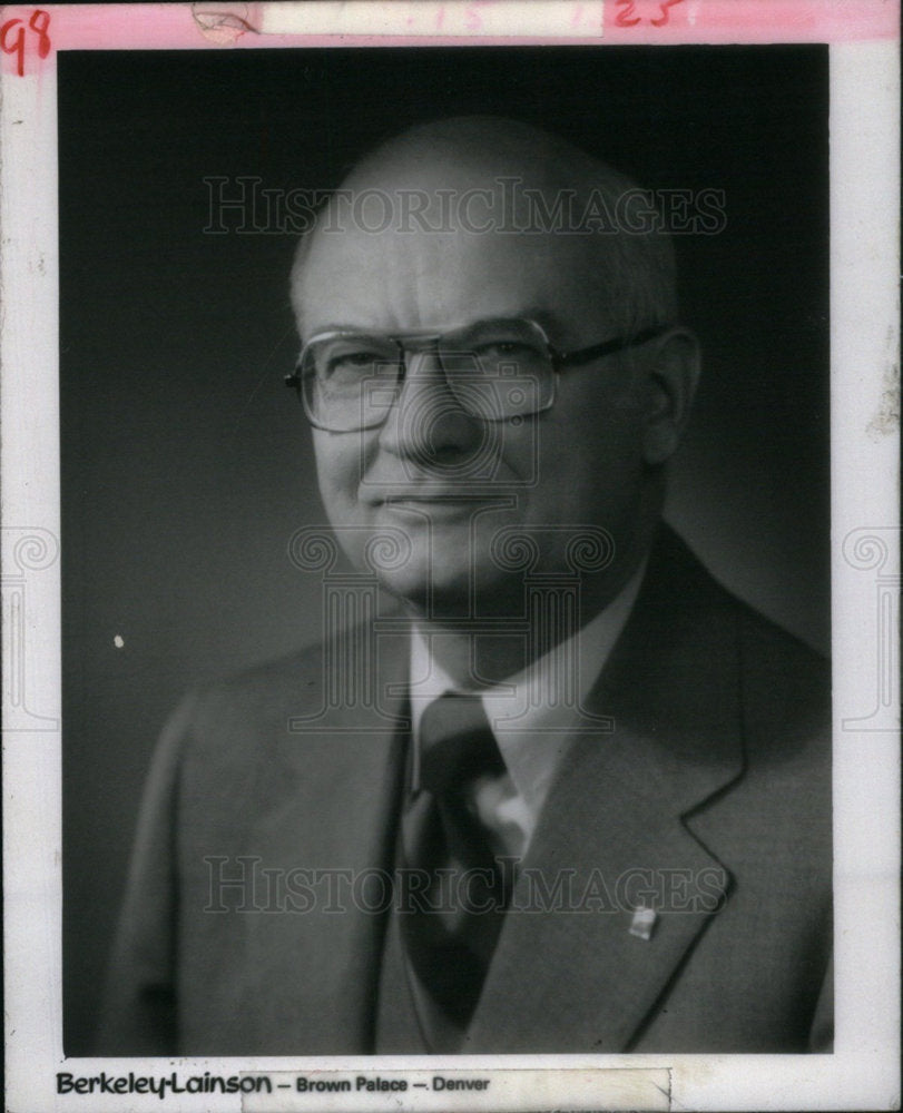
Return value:
[(294, 236), (239, 234), (235, 213), (205, 233), (205, 178), (324, 189), (383, 137), (469, 112), (557, 130), (648, 188), (724, 190), (725, 228), (676, 242), (705, 370), (668, 516), (730, 588), (828, 647), (826, 48), (61, 53), (70, 1055), (89, 1047), (167, 713), (320, 632), (317, 575), (287, 554), (323, 521), (282, 385)]

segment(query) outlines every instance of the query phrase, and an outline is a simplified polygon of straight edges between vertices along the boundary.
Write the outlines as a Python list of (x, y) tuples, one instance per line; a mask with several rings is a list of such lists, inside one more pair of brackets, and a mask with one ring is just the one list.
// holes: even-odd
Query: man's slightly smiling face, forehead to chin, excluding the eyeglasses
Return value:
[[(532, 318), (558, 351), (617, 335), (577, 236), (316, 234), (301, 277), (304, 338), (336, 328), (394, 335), (488, 318)], [(483, 422), (455, 402), (429, 351), (409, 355), (402, 392), (379, 429), (314, 430), (320, 490), (340, 542), (421, 612), (519, 613), (533, 574), (580, 570), (587, 532), (631, 540), (642, 482), (641, 387), (617, 355), (556, 376), (548, 412)], [(375, 562), (374, 562), (375, 556)], [(605, 561), (602, 561), (605, 563)], [(380, 567), (382, 564), (382, 567)]]

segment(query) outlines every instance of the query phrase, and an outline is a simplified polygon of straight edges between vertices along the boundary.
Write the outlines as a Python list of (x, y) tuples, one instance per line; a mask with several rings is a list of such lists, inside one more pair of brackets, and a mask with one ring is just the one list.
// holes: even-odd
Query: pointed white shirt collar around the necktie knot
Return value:
[[(608, 607), (576, 634), (522, 672), (481, 692), (508, 772), (533, 815), (539, 814), (554, 772), (577, 737), (571, 728), (627, 623), (645, 572), (646, 561)], [(411, 637), (410, 676), (413, 737), (419, 746), (424, 709), (457, 686), (431, 654), (418, 627)]]

